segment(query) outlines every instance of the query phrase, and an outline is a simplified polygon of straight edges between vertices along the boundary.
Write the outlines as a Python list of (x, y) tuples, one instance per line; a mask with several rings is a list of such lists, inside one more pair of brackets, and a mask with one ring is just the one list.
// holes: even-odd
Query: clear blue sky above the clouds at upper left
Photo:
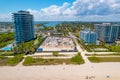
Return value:
[(0, 13), (7, 14), (18, 10), (36, 9), (51, 5), (62, 5), (64, 2), (72, 3), (74, 0), (0, 0)]

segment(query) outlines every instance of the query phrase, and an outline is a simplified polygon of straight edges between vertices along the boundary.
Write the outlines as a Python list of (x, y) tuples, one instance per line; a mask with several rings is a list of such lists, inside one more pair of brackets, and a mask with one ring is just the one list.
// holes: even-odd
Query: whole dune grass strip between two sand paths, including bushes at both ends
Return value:
[(26, 57), (23, 65), (58, 65), (58, 64), (83, 64), (84, 60), (80, 54), (72, 57), (71, 59), (43, 59), (43, 58), (33, 58)]

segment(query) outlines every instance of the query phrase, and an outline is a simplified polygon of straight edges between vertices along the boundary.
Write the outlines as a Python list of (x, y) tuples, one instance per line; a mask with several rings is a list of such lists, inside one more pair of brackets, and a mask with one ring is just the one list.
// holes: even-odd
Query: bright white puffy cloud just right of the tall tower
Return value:
[(34, 15), (35, 20), (70, 20), (71, 17), (75, 19), (75, 16), (71, 16), (71, 11), (68, 10), (70, 5), (70, 3), (65, 2), (62, 6), (51, 5), (40, 10), (28, 9), (28, 11)]

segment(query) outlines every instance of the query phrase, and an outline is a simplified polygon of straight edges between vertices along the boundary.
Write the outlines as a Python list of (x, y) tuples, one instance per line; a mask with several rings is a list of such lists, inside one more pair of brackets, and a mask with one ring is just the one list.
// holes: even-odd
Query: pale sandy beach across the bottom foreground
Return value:
[(0, 80), (120, 80), (120, 63), (4, 66)]

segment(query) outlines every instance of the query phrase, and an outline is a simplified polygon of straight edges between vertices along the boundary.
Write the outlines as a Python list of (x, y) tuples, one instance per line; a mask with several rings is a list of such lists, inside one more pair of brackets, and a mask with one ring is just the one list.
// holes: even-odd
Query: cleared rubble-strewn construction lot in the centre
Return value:
[(75, 44), (70, 37), (49, 36), (40, 45), (37, 51), (75, 52)]

